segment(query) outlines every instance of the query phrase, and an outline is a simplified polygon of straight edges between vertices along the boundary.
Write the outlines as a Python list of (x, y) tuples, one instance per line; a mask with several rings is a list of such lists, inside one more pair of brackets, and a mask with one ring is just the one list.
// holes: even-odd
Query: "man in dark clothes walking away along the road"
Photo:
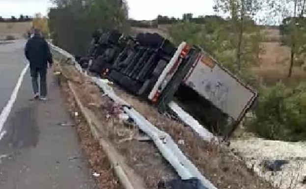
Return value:
[(47, 68), (52, 67), (53, 59), (47, 41), (41, 36), (39, 29), (34, 29), (34, 36), (28, 39), (25, 54), (30, 62), (30, 73), (34, 91), (34, 99), (39, 99), (38, 75), (40, 79), (40, 99), (47, 99)]

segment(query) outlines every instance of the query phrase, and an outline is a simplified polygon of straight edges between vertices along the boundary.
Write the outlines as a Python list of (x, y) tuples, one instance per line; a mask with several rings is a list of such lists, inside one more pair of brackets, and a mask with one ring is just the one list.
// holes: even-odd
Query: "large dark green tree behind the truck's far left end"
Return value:
[(125, 0), (53, 0), (49, 28), (56, 45), (72, 54), (85, 55), (92, 33), (101, 29), (128, 29)]

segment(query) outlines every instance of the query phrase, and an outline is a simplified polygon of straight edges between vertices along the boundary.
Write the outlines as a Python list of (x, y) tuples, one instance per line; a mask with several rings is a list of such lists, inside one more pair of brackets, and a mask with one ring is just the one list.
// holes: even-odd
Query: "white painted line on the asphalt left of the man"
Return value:
[(26, 67), (23, 69), (23, 71), (21, 72), (20, 74), (20, 77), (17, 81), (17, 84), (11, 94), (11, 97), (10, 99), (8, 100), (7, 104), (5, 105), (5, 107), (3, 108), (1, 114), (0, 114), (0, 132), (1, 132), (1, 137), (0, 139), (2, 139), (2, 137), (5, 135), (5, 131), (2, 132), (2, 129), (3, 129), (3, 126), (4, 126), (4, 123), (6, 122), (6, 119), (9, 115), (9, 113), (11, 112), (11, 109), (16, 101), (16, 98), (17, 98), (17, 94), (18, 94), (18, 91), (19, 91), (19, 88), (21, 86), (21, 83), (22, 81), (24, 80), (24, 76), (28, 70), (28, 67), (29, 67), (29, 64), (26, 65)]

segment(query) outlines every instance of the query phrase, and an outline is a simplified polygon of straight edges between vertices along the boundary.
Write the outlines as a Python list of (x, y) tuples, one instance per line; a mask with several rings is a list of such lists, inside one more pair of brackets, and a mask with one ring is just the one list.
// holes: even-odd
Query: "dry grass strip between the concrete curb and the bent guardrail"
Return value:
[(135, 125), (123, 122), (118, 118), (122, 112), (120, 107), (114, 104), (109, 97), (102, 96), (100, 89), (86, 81), (73, 68), (63, 66), (65, 75), (74, 78), (75, 89), (83, 105), (95, 113), (101, 123), (99, 128), (101, 137), (111, 141), (113, 146), (125, 158), (125, 162), (140, 175), (147, 188), (156, 189), (158, 182), (162, 180), (177, 179), (177, 174), (172, 167), (159, 154), (151, 141), (138, 141), (142, 136)]

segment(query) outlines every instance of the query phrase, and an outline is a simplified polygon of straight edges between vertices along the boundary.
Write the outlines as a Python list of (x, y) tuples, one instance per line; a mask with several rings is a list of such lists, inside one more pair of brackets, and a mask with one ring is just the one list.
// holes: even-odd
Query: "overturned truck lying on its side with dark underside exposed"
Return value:
[[(175, 47), (157, 33), (125, 36), (95, 32), (88, 54), (76, 58), (83, 69), (114, 81), (149, 100), (161, 113), (175, 101), (215, 135), (228, 137), (257, 98), (201, 48)], [(174, 112), (172, 112), (174, 113)]]

